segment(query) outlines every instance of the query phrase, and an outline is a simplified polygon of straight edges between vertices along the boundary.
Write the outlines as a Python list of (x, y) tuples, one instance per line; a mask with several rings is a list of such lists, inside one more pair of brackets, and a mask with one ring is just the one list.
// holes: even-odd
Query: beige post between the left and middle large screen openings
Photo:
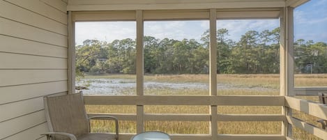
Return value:
[[(143, 14), (142, 10), (136, 10), (136, 92), (137, 95), (144, 95), (143, 79), (144, 79), (144, 65), (143, 65)], [(137, 133), (144, 132), (144, 107), (137, 105)]]

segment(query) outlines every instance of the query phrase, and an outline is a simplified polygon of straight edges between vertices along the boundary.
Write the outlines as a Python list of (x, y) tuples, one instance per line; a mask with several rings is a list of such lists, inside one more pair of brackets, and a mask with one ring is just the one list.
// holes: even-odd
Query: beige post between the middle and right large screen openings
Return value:
[[(210, 95), (217, 95), (217, 11), (210, 9)], [(211, 122), (210, 122), (210, 133), (213, 140), (218, 138), (218, 112), (217, 105), (211, 105)]]

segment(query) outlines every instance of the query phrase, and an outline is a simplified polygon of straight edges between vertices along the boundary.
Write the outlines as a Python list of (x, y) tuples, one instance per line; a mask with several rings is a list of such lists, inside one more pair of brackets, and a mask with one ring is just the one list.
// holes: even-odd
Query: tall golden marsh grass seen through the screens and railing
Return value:
[[(86, 79), (125, 78), (135, 79), (135, 75), (86, 76)], [(161, 81), (168, 83), (198, 82), (209, 83), (208, 75), (145, 75), (144, 81)], [(218, 95), (280, 95), (279, 75), (217, 75), (218, 84), (233, 85), (239, 89), (219, 89)], [(327, 75), (295, 75), (296, 86), (327, 86)], [(251, 88), (268, 88), (271, 90), (251, 90)], [(209, 95), (208, 89), (144, 89), (145, 95)], [(317, 101), (317, 97), (310, 98)], [(86, 105), (89, 113), (135, 114), (135, 106)], [(144, 106), (146, 114), (209, 114), (207, 106)], [(219, 114), (281, 114), (282, 107), (248, 107), (221, 106)], [(294, 111), (294, 116), (319, 126), (318, 118)], [(93, 120), (92, 131), (112, 132), (112, 122)], [(121, 120), (120, 131), (135, 133), (134, 121)], [(160, 130), (170, 134), (209, 134), (209, 122), (181, 121), (146, 121), (145, 130)], [(218, 122), (219, 134), (281, 134), (281, 122)], [(312, 134), (294, 128), (295, 139), (318, 139)]]

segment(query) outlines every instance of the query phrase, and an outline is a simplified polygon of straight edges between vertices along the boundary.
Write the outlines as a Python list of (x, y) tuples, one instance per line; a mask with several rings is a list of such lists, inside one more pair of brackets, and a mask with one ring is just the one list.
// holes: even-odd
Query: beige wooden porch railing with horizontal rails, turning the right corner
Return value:
[[(158, 96), (158, 95), (84, 95), (88, 105), (207, 105), (218, 106), (280, 106), (302, 111), (305, 114), (327, 120), (327, 106), (317, 102), (309, 102), (293, 97), (284, 96)], [(89, 114), (89, 116), (104, 114)], [(107, 115), (107, 114), (106, 114)], [(287, 122), (294, 127), (314, 134), (321, 139), (327, 138), (326, 130), (311, 125), (294, 116), (282, 114), (109, 114), (116, 116), (119, 120), (176, 120), (176, 121), (208, 121), (217, 124), (219, 121), (280, 121)], [(142, 117), (142, 119), (137, 119)], [(137, 123), (142, 124), (142, 122)], [(211, 126), (210, 126), (211, 127)], [(282, 134), (172, 134), (174, 140), (211, 140), (213, 135), (218, 140), (289, 140)], [(128, 140), (133, 134), (121, 134), (121, 140)]]

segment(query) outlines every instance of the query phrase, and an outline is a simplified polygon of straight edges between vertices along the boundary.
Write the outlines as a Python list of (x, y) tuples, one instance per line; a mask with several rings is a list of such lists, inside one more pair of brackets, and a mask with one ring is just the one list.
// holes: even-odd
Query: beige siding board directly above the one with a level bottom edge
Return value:
[(0, 35), (0, 42), (0, 52), (68, 58), (67, 47), (58, 47), (3, 35)]

